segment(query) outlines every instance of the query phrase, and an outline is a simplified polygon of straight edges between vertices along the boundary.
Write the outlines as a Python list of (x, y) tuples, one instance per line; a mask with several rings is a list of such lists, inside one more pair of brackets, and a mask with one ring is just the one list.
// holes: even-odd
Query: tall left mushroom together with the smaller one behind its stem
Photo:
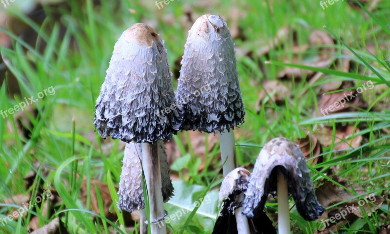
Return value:
[[(123, 181), (119, 190), (121, 200), (118, 205), (120, 209), (128, 211), (144, 207), (139, 181), (130, 179), (142, 172), (139, 170), (141, 163), (148, 191), (149, 221), (153, 234), (166, 233), (165, 225), (161, 225), (166, 216), (163, 204), (172, 195), (161, 140), (170, 140), (182, 122), (179, 109), (160, 115), (162, 110), (176, 105), (171, 76), (164, 42), (152, 27), (144, 23), (134, 24), (123, 32), (114, 46), (95, 107), (94, 124), (102, 137), (111, 136), (113, 139), (119, 138), (126, 143), (137, 144), (134, 148), (128, 148), (132, 159), (124, 160), (121, 175)], [(136, 164), (129, 165), (129, 162)], [(133, 197), (133, 194), (136, 196)]]

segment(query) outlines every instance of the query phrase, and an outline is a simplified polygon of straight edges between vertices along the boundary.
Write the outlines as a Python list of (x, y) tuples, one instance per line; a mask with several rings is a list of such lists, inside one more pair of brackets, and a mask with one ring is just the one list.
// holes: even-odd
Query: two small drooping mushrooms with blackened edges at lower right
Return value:
[[(225, 177), (219, 192), (220, 201), (225, 200), (213, 234), (276, 233), (263, 211), (268, 194), (276, 191), (278, 234), (291, 232), (288, 192), (292, 194), (298, 213), (305, 220), (313, 221), (325, 211), (315, 196), (306, 158), (286, 138), (275, 138), (265, 144), (252, 174), (237, 168)], [(231, 217), (234, 213), (235, 220)]]

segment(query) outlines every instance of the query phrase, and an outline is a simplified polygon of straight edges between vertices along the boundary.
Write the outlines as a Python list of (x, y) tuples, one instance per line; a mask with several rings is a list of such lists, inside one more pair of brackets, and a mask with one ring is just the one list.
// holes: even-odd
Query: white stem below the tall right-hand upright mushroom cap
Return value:
[(236, 168), (234, 130), (218, 132), (223, 165), (223, 177)]

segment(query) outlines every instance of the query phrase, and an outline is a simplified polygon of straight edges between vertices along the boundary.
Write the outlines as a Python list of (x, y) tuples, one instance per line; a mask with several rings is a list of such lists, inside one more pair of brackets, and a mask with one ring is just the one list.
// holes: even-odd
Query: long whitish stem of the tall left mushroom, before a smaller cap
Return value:
[(158, 157), (158, 142), (152, 144), (142, 143), (142, 167), (149, 197), (150, 229), (152, 234), (166, 234), (164, 200), (161, 192), (160, 160)]

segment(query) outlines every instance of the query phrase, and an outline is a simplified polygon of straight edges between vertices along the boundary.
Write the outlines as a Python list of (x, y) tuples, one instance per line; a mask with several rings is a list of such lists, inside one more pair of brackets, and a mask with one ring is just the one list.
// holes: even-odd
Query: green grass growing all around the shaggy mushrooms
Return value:
[[(42, 215), (42, 207), (29, 211), (28, 215), (18, 221), (11, 221), (3, 227), (0, 233), (28, 233), (28, 226), (33, 216), (38, 216), (40, 224), (47, 224), (55, 217), (60, 217), (69, 233), (128, 233), (125, 219), (120, 214), (116, 222), (97, 214), (89, 207), (91, 204), (91, 179), (108, 184), (113, 205), (116, 210), (117, 194), (115, 186), (119, 183), (121, 159), (123, 151), (118, 141), (112, 142), (112, 150), (104, 150), (105, 145), (94, 132), (92, 119), (94, 117), (95, 101), (100, 85), (105, 77), (105, 70), (112, 55), (114, 43), (122, 31), (138, 21), (153, 22), (160, 36), (165, 39), (170, 64), (183, 53), (188, 28), (184, 29), (183, 7), (194, 4), (194, 17), (213, 12), (227, 20), (228, 25), (234, 21), (232, 9), (238, 9), (245, 16), (238, 21), (242, 28), (242, 38), (236, 39), (236, 46), (253, 51), (272, 40), (277, 31), (289, 25), (296, 30), (299, 45), (308, 43), (308, 36), (314, 29), (329, 30), (336, 44), (332, 46), (337, 59), (343, 58), (342, 50), (353, 53), (351, 59), (356, 64), (349, 72), (341, 72), (331, 67), (318, 68), (299, 63), (285, 63), (281, 56), (292, 57), (293, 38), (290, 37), (285, 46), (271, 50), (268, 57), (238, 56), (237, 66), (243, 101), (246, 106), (245, 124), (238, 130), (236, 141), (238, 161), (240, 165), (254, 163), (256, 156), (267, 141), (273, 137), (284, 136), (289, 139), (304, 137), (301, 128), (316, 132), (318, 126), (339, 125), (359, 126), (360, 132), (348, 136), (344, 141), (351, 141), (356, 135), (367, 138), (360, 147), (346, 151), (335, 150), (335, 144), (323, 148), (323, 162), (310, 167), (314, 185), (318, 187), (323, 179), (330, 180), (327, 170), (337, 168), (337, 175), (347, 178), (363, 187), (366, 192), (389, 195), (390, 186), (388, 167), (390, 141), (389, 134), (382, 129), (390, 128), (390, 111), (388, 109), (359, 112), (338, 113), (315, 117), (317, 95), (324, 80), (310, 84), (306, 79), (294, 78), (289, 81), (291, 98), (285, 99), (285, 104), (264, 102), (259, 113), (256, 112), (258, 92), (262, 89), (260, 83), (264, 80), (274, 80), (278, 72), (286, 67), (297, 67), (316, 72), (323, 72), (334, 81), (354, 81), (356, 86), (361, 82), (371, 80), (373, 83), (389, 85), (390, 64), (389, 51), (380, 45), (389, 44), (388, 21), (390, 2), (382, 1), (378, 10), (368, 13), (356, 11), (346, 3), (338, 1), (323, 10), (319, 4), (309, 0), (284, 0), (275, 4), (273, 0), (249, 0), (241, 3), (235, 1), (211, 1), (208, 6), (205, 1), (172, 1), (162, 10), (158, 10), (154, 2), (138, 0), (101, 1), (94, 4), (92, 0), (69, 0), (69, 8), (46, 6), (48, 17), (40, 25), (27, 16), (10, 8), (14, 17), (33, 28), (39, 35), (38, 42), (29, 44), (5, 28), (1, 28), (12, 38), (13, 48), (1, 47), (1, 56), (9, 69), (7, 81), (0, 89), (0, 109), (8, 109), (23, 101), (24, 97), (36, 97), (42, 90), (53, 86), (56, 94), (46, 96), (35, 103), (38, 114), (26, 111), (31, 122), (29, 137), (18, 133), (18, 122), (14, 118), (0, 118), (0, 201), (16, 194), (32, 193), (35, 197), (39, 189), (53, 186), (58, 192), (60, 201), (53, 207), (55, 213)], [(132, 14), (129, 8), (137, 14)], [(54, 15), (59, 14), (59, 18)], [(173, 21), (167, 22), (171, 17)], [(165, 19), (165, 20), (164, 20)], [(326, 25), (326, 29), (323, 26)], [(49, 28), (49, 29), (48, 29)], [(45, 43), (41, 50), (39, 44)], [(370, 54), (365, 48), (373, 44), (376, 55)], [(269, 61), (266, 63), (266, 61)], [(258, 64), (264, 66), (264, 71)], [(331, 64), (333, 65), (333, 64)], [(172, 66), (172, 70), (175, 67)], [(20, 86), (20, 94), (9, 95), (11, 73)], [(177, 80), (174, 79), (174, 85)], [(389, 96), (389, 89), (382, 96), (373, 97), (369, 103), (370, 109), (381, 99)], [(74, 122), (72, 121), (74, 119)], [(8, 124), (7, 124), (8, 123)], [(365, 126), (365, 127), (360, 127)], [(332, 136), (333, 140), (335, 135)], [(174, 171), (187, 183), (176, 187), (177, 196), (188, 196), (191, 199), (168, 204), (169, 212), (175, 212), (177, 207), (185, 207), (195, 200), (204, 197), (208, 191), (215, 190), (221, 183), (222, 176), (215, 168), (220, 164), (217, 160), (218, 144), (211, 152), (206, 152), (205, 169), (198, 171), (201, 163), (191, 145), (185, 142), (190, 139), (188, 134), (174, 137), (182, 158), (174, 162)], [(206, 147), (207, 149), (207, 147)], [(108, 151), (108, 152), (107, 152)], [(34, 162), (40, 162), (37, 170)], [(211, 170), (208, 166), (213, 166)], [(43, 171), (47, 169), (48, 172)], [(26, 191), (24, 176), (31, 170), (36, 170), (37, 176), (32, 186)], [(86, 178), (86, 204), (80, 199), (82, 179)], [(332, 181), (335, 183), (335, 181)], [(186, 187), (190, 186), (190, 187)], [(192, 186), (192, 187), (191, 187)], [(200, 187), (196, 187), (200, 186)], [(99, 192), (97, 192), (99, 193)], [(188, 194), (187, 194), (188, 193)], [(356, 192), (352, 191), (356, 196)], [(215, 191), (213, 193), (215, 195)], [(98, 195), (98, 210), (103, 211), (103, 200)], [(376, 234), (380, 225), (389, 224), (389, 202), (372, 213), (365, 213), (364, 218), (356, 219), (346, 225), (339, 233), (372, 233)], [(198, 213), (216, 215), (216, 199), (213, 204), (201, 206)], [(207, 208), (213, 207), (213, 209)], [(275, 211), (276, 204), (268, 204), (270, 212)], [(0, 204), (0, 218), (4, 218), (14, 205)], [(215, 208), (215, 209), (214, 209)], [(196, 210), (195, 210), (196, 212)], [(207, 215), (188, 213), (181, 220), (173, 221), (170, 226), (175, 233), (209, 233), (212, 221), (205, 220)], [(117, 211), (117, 213), (119, 213)], [(198, 215), (198, 216), (196, 216)], [(195, 216), (195, 218), (191, 218)], [(98, 217), (98, 218), (94, 218)], [(207, 223), (207, 225), (205, 224)], [(292, 210), (292, 225), (295, 233), (313, 234), (321, 228), (320, 220), (304, 221)], [(135, 232), (134, 232), (135, 233)]]

